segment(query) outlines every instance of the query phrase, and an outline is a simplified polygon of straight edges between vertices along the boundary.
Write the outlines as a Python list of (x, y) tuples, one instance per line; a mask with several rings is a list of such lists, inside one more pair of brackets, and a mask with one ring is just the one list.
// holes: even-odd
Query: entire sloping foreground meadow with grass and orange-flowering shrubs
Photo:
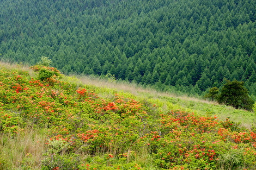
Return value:
[(19, 67), (1, 64), (0, 169), (256, 168), (256, 131), (224, 119), (251, 112)]

